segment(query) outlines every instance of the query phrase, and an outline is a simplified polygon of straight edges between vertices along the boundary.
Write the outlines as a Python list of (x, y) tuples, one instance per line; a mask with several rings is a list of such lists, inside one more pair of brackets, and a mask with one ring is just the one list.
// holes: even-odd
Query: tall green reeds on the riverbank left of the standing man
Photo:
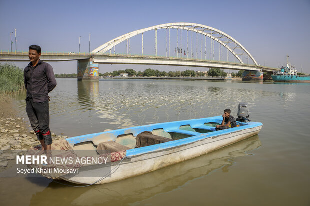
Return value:
[(0, 64), (0, 93), (24, 88), (23, 70), (14, 64)]

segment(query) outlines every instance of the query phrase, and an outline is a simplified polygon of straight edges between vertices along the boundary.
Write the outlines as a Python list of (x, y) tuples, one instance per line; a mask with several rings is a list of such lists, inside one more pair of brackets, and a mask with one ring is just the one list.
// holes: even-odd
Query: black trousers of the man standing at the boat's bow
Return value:
[(33, 102), (30, 98), (26, 100), (26, 112), (28, 114), (31, 127), (36, 133), (37, 139), (44, 139), (45, 145), (52, 143), (51, 133), (49, 129), (49, 104), (45, 102)]

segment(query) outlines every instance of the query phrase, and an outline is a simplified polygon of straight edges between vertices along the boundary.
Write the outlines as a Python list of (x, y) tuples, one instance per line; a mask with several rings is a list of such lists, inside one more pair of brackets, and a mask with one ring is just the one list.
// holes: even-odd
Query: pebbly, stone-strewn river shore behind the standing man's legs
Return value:
[[(52, 133), (53, 140), (67, 136)], [(9, 95), (0, 95), (0, 167), (7, 167), (10, 160), (16, 158), (15, 153), (39, 145), (40, 142), (30, 125), (24, 118), (18, 117), (14, 103)]]

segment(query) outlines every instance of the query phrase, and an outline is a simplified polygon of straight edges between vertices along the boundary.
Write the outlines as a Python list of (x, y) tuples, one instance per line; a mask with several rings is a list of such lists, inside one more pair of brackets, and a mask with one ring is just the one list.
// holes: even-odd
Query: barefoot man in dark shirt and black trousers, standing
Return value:
[(29, 46), (30, 63), (24, 69), (23, 79), (27, 89), (26, 112), (31, 127), (42, 145), (42, 150), (51, 149), (49, 130), (48, 93), (57, 85), (53, 68), (40, 60), (41, 47)]

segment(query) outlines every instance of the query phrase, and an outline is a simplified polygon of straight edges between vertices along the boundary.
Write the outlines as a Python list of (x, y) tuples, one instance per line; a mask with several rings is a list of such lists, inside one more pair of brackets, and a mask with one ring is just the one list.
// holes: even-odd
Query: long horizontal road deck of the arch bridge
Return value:
[[(235, 70), (253, 71), (277, 71), (278, 68), (256, 66), (252, 64), (241, 64), (215, 60), (204, 60), (194, 58), (177, 58), (166, 56), (147, 55), (124, 55), (124, 54), (94, 54), (75, 52), (42, 52), (40, 59), (43, 61), (72, 61), (93, 58), (94, 63), (100, 64), (146, 64), (146, 65), (168, 65), (168, 66), (192, 66), (206, 68), (221, 68)], [(28, 51), (0, 52), (0, 61), (29, 61)]]

